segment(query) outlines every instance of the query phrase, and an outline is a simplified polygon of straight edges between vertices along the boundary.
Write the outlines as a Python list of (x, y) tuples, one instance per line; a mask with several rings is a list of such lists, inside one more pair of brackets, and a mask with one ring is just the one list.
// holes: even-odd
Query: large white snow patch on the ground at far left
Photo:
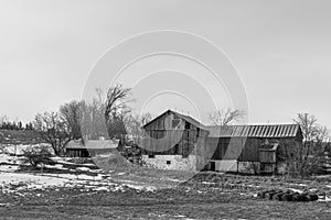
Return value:
[[(2, 193), (18, 193), (26, 189), (47, 189), (56, 187), (79, 187), (82, 190), (154, 190), (151, 186), (141, 186), (139, 183), (125, 183), (113, 179), (102, 169), (92, 168), (94, 164), (75, 164), (66, 162), (63, 157), (52, 157), (55, 165), (44, 165), (44, 168), (62, 170), (62, 173), (29, 173), (20, 172), (19, 164), (22, 160), (13, 156), (13, 152), (22, 153), (22, 148), (31, 146), (7, 146), (0, 152), (0, 190)], [(76, 165), (76, 168), (67, 168), (64, 165)], [(89, 168), (90, 167), (90, 168)], [(66, 173), (67, 172), (67, 173)], [(75, 174), (75, 172), (77, 174)], [(84, 172), (84, 174), (82, 174)], [(86, 174), (85, 174), (86, 173)], [(90, 175), (89, 175), (90, 174)]]

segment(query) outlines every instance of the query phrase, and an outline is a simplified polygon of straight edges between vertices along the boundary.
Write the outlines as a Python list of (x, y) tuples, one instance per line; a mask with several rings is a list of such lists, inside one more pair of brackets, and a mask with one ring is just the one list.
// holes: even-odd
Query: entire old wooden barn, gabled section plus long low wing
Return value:
[(171, 110), (143, 130), (142, 160), (164, 169), (284, 173), (302, 144), (298, 124), (206, 127)]

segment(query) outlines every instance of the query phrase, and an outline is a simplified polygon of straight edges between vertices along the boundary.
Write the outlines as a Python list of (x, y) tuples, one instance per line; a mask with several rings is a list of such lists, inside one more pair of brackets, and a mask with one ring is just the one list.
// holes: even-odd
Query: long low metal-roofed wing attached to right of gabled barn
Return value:
[[(207, 130), (206, 148), (214, 150), (209, 168), (214, 170), (282, 173), (285, 158), (302, 144), (298, 124), (207, 127)], [(213, 148), (214, 145), (217, 147)], [(273, 160), (267, 161), (270, 155)]]

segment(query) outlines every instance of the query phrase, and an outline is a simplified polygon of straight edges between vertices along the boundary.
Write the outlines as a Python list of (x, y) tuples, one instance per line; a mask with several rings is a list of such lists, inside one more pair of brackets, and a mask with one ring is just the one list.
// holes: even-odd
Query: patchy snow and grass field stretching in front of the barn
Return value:
[[(2, 160), (2, 161), (1, 161)], [(54, 157), (43, 172), (0, 157), (2, 219), (330, 219), (330, 176), (309, 180), (158, 170), (117, 157)], [(107, 166), (102, 170), (96, 165)], [(263, 189), (314, 191), (313, 202), (259, 199)]]

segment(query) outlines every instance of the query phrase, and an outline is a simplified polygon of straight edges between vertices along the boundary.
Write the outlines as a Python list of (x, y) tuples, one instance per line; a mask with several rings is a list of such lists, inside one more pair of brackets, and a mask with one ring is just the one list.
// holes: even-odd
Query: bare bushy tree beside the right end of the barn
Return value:
[(306, 177), (316, 173), (325, 162), (327, 142), (330, 135), (325, 127), (317, 123), (317, 118), (309, 113), (298, 113), (293, 119), (301, 127), (303, 143), (292, 154), (295, 170)]

